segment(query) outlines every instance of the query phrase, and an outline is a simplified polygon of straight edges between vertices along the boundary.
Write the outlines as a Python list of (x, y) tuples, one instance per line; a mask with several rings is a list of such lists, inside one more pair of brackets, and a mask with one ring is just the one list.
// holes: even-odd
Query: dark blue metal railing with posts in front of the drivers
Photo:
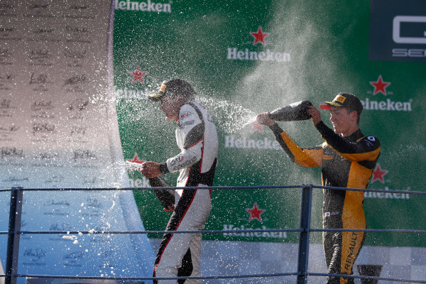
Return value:
[[(317, 231), (365, 231), (365, 232), (392, 232), (392, 233), (415, 233), (425, 234), (426, 230), (409, 229), (313, 229), (310, 227), (312, 211), (312, 190), (332, 189), (332, 190), (353, 190), (361, 192), (389, 192), (389, 190), (360, 190), (346, 187), (324, 187), (317, 185), (271, 185), (271, 186), (231, 186), (231, 187), (156, 187), (158, 189), (199, 189), (199, 190), (238, 190), (238, 189), (286, 189), (302, 188), (302, 200), (300, 207), (300, 227), (298, 229), (244, 229), (244, 230), (202, 230), (202, 231), (173, 231), (173, 234), (217, 234), (217, 233), (244, 233), (244, 232), (299, 232), (299, 248), (297, 254), (297, 271), (291, 273), (272, 273), (272, 274), (250, 274), (250, 275), (213, 275), (202, 277), (175, 277), (175, 278), (153, 278), (153, 277), (99, 277), (99, 276), (77, 276), (77, 275), (31, 275), (18, 273), (18, 253), (21, 234), (165, 234), (167, 231), (21, 231), (21, 214), (23, 205), (23, 191), (106, 191), (106, 190), (152, 190), (152, 187), (126, 187), (126, 188), (28, 188), (12, 187), (11, 189), (1, 189), (0, 192), (10, 191), (11, 202), (9, 209), (9, 228), (8, 231), (0, 231), (0, 234), (8, 235), (6, 269), (5, 274), (0, 277), (5, 278), (6, 284), (16, 284), (17, 278), (67, 278), (80, 280), (178, 280), (178, 279), (226, 279), (226, 278), (258, 278), (258, 277), (277, 277), (291, 276), (297, 277), (297, 284), (306, 284), (308, 276), (337, 276), (346, 278), (374, 279), (385, 281), (400, 281), (403, 283), (426, 283), (426, 280), (410, 280), (400, 278), (383, 278), (366, 275), (346, 275), (330, 273), (312, 273), (308, 271), (310, 232)], [(406, 190), (393, 190), (393, 193), (404, 193), (407, 195), (426, 195), (426, 192), (415, 192)]]

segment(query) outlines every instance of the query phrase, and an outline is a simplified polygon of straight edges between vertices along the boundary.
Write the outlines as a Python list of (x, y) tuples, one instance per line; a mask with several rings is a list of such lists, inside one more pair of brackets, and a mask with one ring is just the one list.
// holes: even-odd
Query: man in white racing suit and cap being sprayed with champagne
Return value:
[[(160, 110), (168, 121), (178, 123), (176, 142), (180, 153), (165, 163), (148, 161), (142, 164), (146, 178), (180, 172), (177, 187), (210, 186), (217, 165), (217, 130), (210, 114), (194, 101), (195, 90), (185, 80), (163, 82), (160, 90), (149, 99), (160, 102)], [(175, 206), (160, 243), (153, 277), (200, 276), (201, 233), (173, 234), (173, 231), (200, 231), (210, 214), (210, 190), (174, 190)], [(202, 283), (200, 279), (154, 280), (154, 283)]]

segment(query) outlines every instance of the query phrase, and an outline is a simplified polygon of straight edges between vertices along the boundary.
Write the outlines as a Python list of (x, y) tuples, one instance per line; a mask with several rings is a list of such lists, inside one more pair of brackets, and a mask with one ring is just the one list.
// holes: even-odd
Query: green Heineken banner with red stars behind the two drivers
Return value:
[[(351, 92), (364, 104), (361, 130), (381, 141), (381, 157), (368, 188), (388, 190), (365, 194), (368, 228), (424, 230), (418, 217), (426, 213), (425, 197), (393, 191), (425, 191), (426, 102), (422, 94), (426, 92), (426, 65), (422, 60), (426, 44), (394, 43), (383, 48), (379, 45), (384, 40), (371, 40), (371, 35), (378, 34), (392, 40), (395, 33), (392, 23), (381, 23), (398, 16), (398, 6), (376, 13), (386, 6), (382, 2), (117, 1), (114, 84), (124, 157), (163, 162), (178, 153), (176, 125), (165, 121), (146, 94), (165, 79), (181, 77), (192, 83), (198, 100), (218, 126), (214, 185), (320, 185), (320, 168), (293, 164), (272, 132), (251, 122), (260, 112), (302, 99), (318, 107), (339, 92)], [(413, 5), (405, 16), (424, 11), (419, 1)], [(422, 9), (415, 9), (416, 5)], [(404, 19), (398, 22), (401, 27)], [(398, 36), (409, 37), (405, 30)], [(399, 61), (378, 61), (369, 54), (378, 48), (390, 57), (402, 55), (400, 50), (405, 48), (409, 60), (399, 56)], [(322, 119), (331, 126), (327, 111)], [(280, 126), (300, 146), (322, 143), (312, 121), (282, 122)], [(138, 172), (130, 173), (130, 178), (134, 187), (148, 186)], [(175, 178), (174, 174), (165, 176), (173, 185)], [(206, 229), (299, 226), (300, 189), (214, 190), (212, 194)], [(138, 191), (135, 196), (146, 229), (163, 230), (169, 214), (162, 212), (153, 192)], [(320, 228), (321, 190), (315, 190), (312, 206), (312, 227)], [(203, 237), (298, 241), (295, 233)], [(312, 238), (321, 239), (320, 234)], [(390, 233), (368, 234), (366, 244), (426, 246), (420, 236)]]

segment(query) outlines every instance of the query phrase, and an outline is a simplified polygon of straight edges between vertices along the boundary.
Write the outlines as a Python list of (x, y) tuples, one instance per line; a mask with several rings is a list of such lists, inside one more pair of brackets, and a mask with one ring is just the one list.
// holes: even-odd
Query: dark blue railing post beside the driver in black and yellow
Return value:
[(297, 258), (297, 284), (307, 283), (307, 262), (309, 258), (310, 217), (312, 204), (312, 185), (302, 185), (302, 204), (300, 207), (299, 254)]

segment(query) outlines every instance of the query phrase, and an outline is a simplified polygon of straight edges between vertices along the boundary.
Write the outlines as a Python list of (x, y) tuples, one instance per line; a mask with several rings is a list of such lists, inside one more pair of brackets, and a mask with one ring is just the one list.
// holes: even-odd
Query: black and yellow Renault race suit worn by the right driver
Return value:
[[(380, 142), (361, 130), (342, 137), (322, 121), (316, 128), (325, 140), (320, 146), (300, 148), (283, 129), (271, 126), (276, 140), (293, 162), (304, 167), (322, 166), (322, 185), (364, 189), (380, 155)], [(366, 229), (364, 192), (324, 189), (324, 229)], [(327, 272), (352, 274), (354, 262), (364, 243), (362, 231), (324, 231), (322, 234)], [(354, 283), (353, 278), (327, 279), (327, 284)]]

